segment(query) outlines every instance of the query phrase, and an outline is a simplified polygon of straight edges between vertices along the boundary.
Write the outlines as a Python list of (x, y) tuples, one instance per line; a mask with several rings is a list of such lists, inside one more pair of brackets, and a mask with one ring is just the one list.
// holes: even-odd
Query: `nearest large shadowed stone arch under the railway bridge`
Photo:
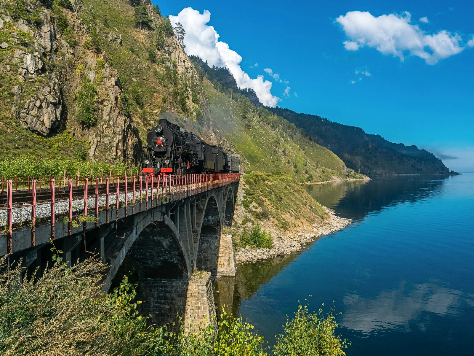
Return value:
[(138, 309), (151, 315), (150, 321), (157, 325), (175, 320), (176, 312), (186, 315), (192, 273), (178, 227), (164, 213), (146, 211), (134, 220), (133, 232), (124, 242), (124, 258), (111, 283), (115, 287), (124, 275), (130, 276), (130, 282), (137, 284), (137, 300), (143, 301)]

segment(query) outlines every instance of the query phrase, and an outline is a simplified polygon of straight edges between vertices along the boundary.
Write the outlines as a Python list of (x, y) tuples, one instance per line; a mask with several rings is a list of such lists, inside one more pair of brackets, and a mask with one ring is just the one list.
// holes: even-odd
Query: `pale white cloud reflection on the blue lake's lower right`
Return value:
[(462, 294), (432, 282), (408, 288), (406, 281), (401, 281), (397, 290), (383, 290), (376, 298), (348, 294), (340, 325), (363, 333), (395, 328), (410, 332), (413, 324), (409, 321), (419, 319), (423, 312), (456, 315)]

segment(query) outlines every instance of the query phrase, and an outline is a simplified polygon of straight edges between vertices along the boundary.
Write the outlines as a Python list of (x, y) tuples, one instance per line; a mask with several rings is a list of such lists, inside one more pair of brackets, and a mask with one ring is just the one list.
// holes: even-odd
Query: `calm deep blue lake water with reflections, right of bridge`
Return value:
[(311, 295), (335, 300), (347, 355), (473, 355), (474, 174), (397, 176), (307, 187), (353, 219), (300, 253), (237, 267), (216, 302), (273, 344)]

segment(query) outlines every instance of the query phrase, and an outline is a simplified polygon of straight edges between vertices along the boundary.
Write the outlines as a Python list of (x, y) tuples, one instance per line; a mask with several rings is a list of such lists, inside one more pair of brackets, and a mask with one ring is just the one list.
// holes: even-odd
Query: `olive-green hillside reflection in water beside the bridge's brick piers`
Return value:
[(241, 300), (252, 297), (262, 284), (268, 283), (299, 253), (238, 265), (235, 277), (217, 278), (214, 282), (214, 300), (219, 310), (221, 305), (226, 305), (229, 306), (228, 310), (238, 315)]

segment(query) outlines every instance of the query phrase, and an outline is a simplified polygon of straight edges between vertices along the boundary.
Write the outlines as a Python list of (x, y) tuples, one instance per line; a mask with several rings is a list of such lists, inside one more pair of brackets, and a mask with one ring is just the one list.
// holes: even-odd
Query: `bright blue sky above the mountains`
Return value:
[[(202, 16), (199, 26), (197, 12), (194, 18), (190, 13), (189, 21), (174, 19), (192, 28), (186, 51), (195, 48), (193, 41), (202, 40), (203, 28), (212, 26), (224, 42), (219, 51), (233, 60), (216, 63), (234, 66), (240, 55), (241, 81), (266, 90), (268, 103), (278, 101), (278, 106), (296, 112), (358, 126), (392, 142), (415, 144), (437, 154), (449, 169), (474, 171), (474, 40), (469, 42), (474, 34), (474, 3), (153, 3), (164, 16), (176, 16), (188, 7), (200, 15), (208, 10), (209, 22)], [(383, 31), (389, 38), (380, 37)], [(421, 47), (414, 40), (423, 42)], [(259, 75), (263, 79), (257, 80)]]

